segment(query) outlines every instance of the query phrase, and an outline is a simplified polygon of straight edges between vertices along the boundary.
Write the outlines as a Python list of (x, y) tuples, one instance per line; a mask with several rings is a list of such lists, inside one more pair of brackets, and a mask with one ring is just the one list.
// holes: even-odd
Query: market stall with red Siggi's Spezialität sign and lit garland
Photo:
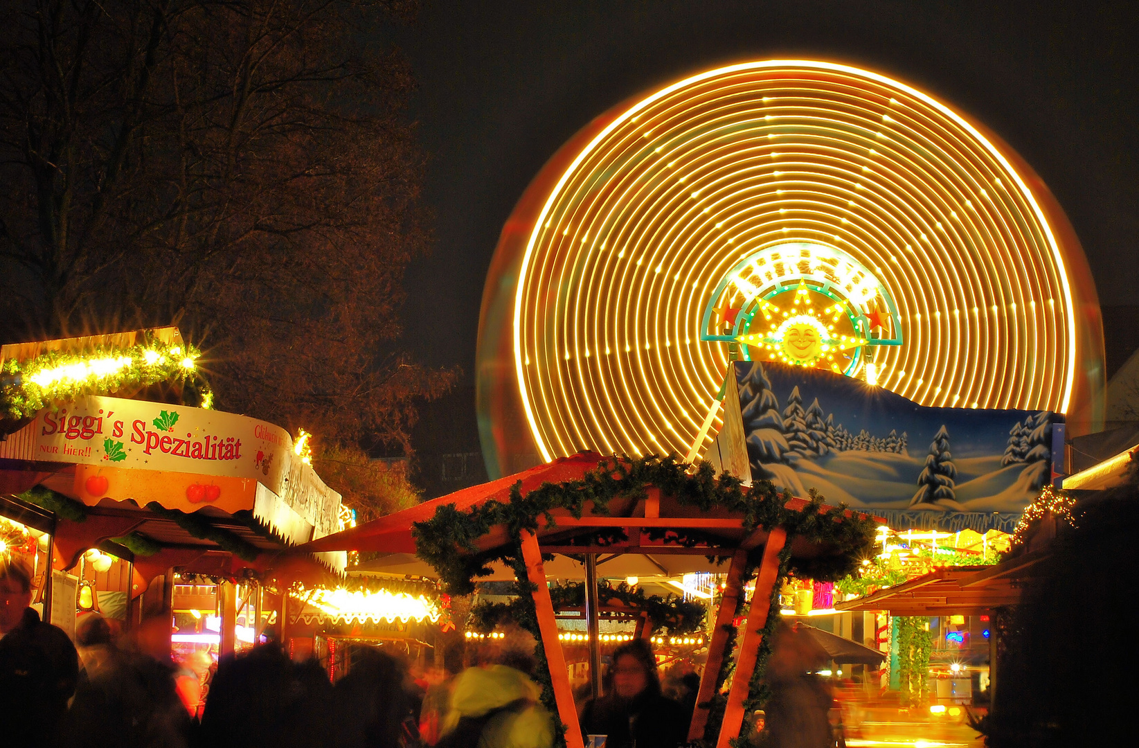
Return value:
[[(261, 635), (263, 584), (343, 570), (344, 553), (293, 550), (343, 528), (304, 438), (211, 410), (198, 355), (177, 328), (0, 350), (0, 516), (34, 541), (18, 545), (46, 619), (73, 631), (76, 613), (95, 610), (130, 628), (181, 611), (221, 623), (175, 639), (226, 651), (238, 615)], [(194, 586), (180, 577), (195, 575), (208, 593), (189, 594), (208, 603), (179, 600)]]

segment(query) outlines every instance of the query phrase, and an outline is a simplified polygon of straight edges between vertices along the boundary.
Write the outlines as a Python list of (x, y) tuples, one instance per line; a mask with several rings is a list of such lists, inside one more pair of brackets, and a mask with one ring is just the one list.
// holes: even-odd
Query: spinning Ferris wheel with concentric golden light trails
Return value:
[[(527, 216), (500, 318), (515, 381), (492, 386), (517, 387), (544, 461), (688, 453), (732, 346), (769, 356), (779, 314), (804, 310), (826, 313), (819, 338), (866, 344), (816, 359), (920, 404), (1068, 411), (1079, 246), (1031, 170), (933, 97), (835, 63), (753, 61), (590, 132)], [(780, 296), (794, 279), (806, 296)]]

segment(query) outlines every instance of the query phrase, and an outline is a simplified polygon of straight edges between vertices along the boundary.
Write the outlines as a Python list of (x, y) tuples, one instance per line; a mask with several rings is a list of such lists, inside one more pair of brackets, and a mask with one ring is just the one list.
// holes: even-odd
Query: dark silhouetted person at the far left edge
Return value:
[(0, 561), (0, 730), (13, 746), (50, 742), (79, 681), (75, 646), (31, 603), (27, 569)]

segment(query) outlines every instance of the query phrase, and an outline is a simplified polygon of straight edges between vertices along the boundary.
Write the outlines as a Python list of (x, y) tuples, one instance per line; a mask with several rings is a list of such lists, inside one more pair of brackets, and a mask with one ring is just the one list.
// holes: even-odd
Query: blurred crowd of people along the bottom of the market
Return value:
[[(89, 748), (552, 748), (556, 720), (534, 681), (534, 640), (524, 632), (475, 655), (458, 674), (409, 667), (399, 655), (357, 648), (350, 672), (329, 682), (316, 660), (293, 661), (262, 644), (213, 664), (175, 663), (163, 650), (169, 625), (153, 619), (123, 635), (98, 614), (75, 642), (30, 607), (25, 569), (0, 564), (0, 724), (10, 745)], [(772, 658), (794, 681), (797, 652)], [(212, 665), (212, 667), (211, 667)], [(208, 671), (208, 677), (205, 673)], [(202, 684), (208, 681), (204, 698)], [(687, 742), (698, 677), (662, 688), (647, 642), (611, 658), (603, 696), (582, 699), (583, 735), (606, 748), (672, 748)], [(817, 713), (820, 694), (792, 683), (789, 709)], [(813, 701), (812, 701), (813, 699)], [(806, 704), (811, 701), (811, 704)], [(800, 717), (800, 722), (802, 718)], [(825, 724), (825, 717), (823, 717)], [(803, 731), (802, 724), (793, 726)], [(809, 731), (808, 731), (809, 732)], [(820, 733), (821, 734), (821, 733)], [(772, 733), (775, 737), (775, 733)], [(813, 742), (768, 741), (768, 745)], [(826, 745), (820, 742), (821, 745)]]

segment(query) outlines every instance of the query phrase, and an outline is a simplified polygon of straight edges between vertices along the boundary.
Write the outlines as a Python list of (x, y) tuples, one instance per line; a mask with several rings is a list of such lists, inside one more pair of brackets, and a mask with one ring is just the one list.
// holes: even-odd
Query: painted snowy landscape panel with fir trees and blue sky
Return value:
[(1051, 479), (1048, 411), (924, 408), (775, 362), (735, 370), (752, 477), (796, 495), (814, 488), (829, 503), (907, 512), (1014, 512)]

